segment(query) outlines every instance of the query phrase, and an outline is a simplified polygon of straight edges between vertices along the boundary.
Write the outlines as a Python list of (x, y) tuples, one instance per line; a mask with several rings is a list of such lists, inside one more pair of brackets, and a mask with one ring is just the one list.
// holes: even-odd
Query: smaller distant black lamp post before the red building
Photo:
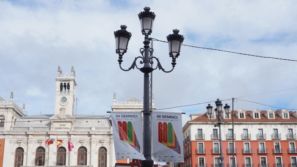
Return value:
[[(225, 163), (224, 163), (224, 157), (223, 157), (223, 150), (222, 150), (222, 134), (221, 134), (221, 124), (222, 122), (222, 101), (220, 101), (219, 99), (217, 99), (217, 101), (215, 101), (217, 108), (214, 109), (214, 111), (216, 112), (216, 116), (218, 118), (218, 122), (216, 124), (214, 124), (214, 127), (219, 127), (219, 140), (220, 140), (220, 167), (225, 167)], [(212, 114), (212, 106), (210, 104), (208, 104), (208, 106), (206, 107), (208, 115), (209, 115), (209, 119), (211, 119), (211, 114)], [(228, 104), (225, 104), (224, 106), (225, 109), (225, 113), (227, 114), (228, 118), (229, 118), (229, 114), (230, 114), (230, 106)], [(234, 148), (233, 148), (234, 149)], [(234, 150), (233, 150), (234, 151)]]

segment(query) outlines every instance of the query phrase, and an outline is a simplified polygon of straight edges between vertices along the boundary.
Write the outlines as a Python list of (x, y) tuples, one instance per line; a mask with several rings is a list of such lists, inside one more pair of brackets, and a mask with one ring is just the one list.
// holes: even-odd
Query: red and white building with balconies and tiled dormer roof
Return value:
[[(184, 163), (181, 167), (219, 167), (219, 128), (207, 113), (190, 114), (183, 127)], [(234, 111), (234, 149), (232, 112), (223, 113), (222, 152), (225, 167), (297, 167), (297, 111)], [(233, 161), (234, 151), (234, 161)]]

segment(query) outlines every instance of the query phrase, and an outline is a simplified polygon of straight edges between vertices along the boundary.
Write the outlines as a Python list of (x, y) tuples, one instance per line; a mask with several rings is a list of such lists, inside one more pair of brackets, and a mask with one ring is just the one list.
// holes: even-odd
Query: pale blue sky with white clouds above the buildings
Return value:
[[(150, 37), (158, 40), (179, 29), (185, 45), (297, 60), (296, 1), (0, 1), (0, 96), (9, 100), (13, 90), (29, 115), (53, 114), (60, 64), (64, 73), (75, 68), (77, 114), (106, 115), (114, 91), (118, 101), (142, 100), (143, 73), (119, 68), (113, 31), (125, 24), (132, 33), (128, 68), (143, 47), (137, 14), (146, 6), (156, 14)], [(171, 69), (167, 43), (154, 41), (154, 56)], [(154, 102), (157, 109), (191, 105), (160, 110), (186, 112), (184, 120), (206, 112), (207, 104), (192, 104), (217, 98), (295, 111), (296, 64), (183, 46), (173, 72), (154, 71)], [(234, 103), (235, 110), (270, 108), (277, 109)]]

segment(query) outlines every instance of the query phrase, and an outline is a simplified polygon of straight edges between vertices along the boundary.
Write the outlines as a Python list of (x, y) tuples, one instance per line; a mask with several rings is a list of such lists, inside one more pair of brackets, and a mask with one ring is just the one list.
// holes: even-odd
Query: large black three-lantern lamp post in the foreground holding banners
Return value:
[[(143, 48), (140, 48), (140, 53), (142, 56), (135, 57), (132, 65), (128, 69), (123, 69), (121, 67), (121, 63), (123, 62), (123, 55), (127, 52), (128, 42), (132, 36), (130, 32), (128, 32), (126, 25), (121, 25), (121, 29), (118, 31), (114, 31), (114, 36), (116, 39), (116, 53), (119, 54), (119, 66), (121, 70), (129, 71), (134, 69), (135, 67), (140, 70), (144, 74), (144, 82), (143, 82), (143, 154), (146, 160), (141, 161), (142, 167), (152, 167), (154, 165), (154, 161), (151, 159), (151, 110), (149, 107), (149, 73), (159, 68), (165, 73), (170, 73), (175, 65), (176, 58), (178, 58), (179, 53), (181, 51), (181, 44), (184, 41), (184, 37), (178, 34), (179, 30), (173, 30), (173, 34), (169, 34), (167, 36), (168, 46), (169, 46), (169, 57), (172, 58), (172, 69), (170, 71), (166, 71), (162, 68), (162, 65), (159, 62), (159, 59), (151, 56), (154, 52), (153, 48), (149, 47), (150, 40), (149, 35), (153, 30), (153, 23), (156, 15), (154, 12), (150, 12), (150, 7), (143, 8), (144, 11), (138, 14), (141, 26), (141, 32), (144, 35)], [(138, 68), (136, 64), (136, 60), (140, 59), (140, 64), (143, 64), (143, 67)], [(157, 61), (157, 66), (155, 68), (151, 67), (153, 64), (153, 59)]]

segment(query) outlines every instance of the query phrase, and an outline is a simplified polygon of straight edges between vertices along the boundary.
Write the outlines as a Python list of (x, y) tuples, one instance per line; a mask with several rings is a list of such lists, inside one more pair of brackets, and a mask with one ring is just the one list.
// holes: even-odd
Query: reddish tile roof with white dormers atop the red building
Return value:
[[(289, 112), (290, 118), (289, 119), (282, 119), (282, 117), (280, 117), (278, 114), (274, 114), (274, 119), (268, 119), (263, 113), (265, 113), (266, 111), (261, 111), (260, 112), (260, 119), (254, 119), (252, 116), (250, 116), (249, 114), (252, 111), (246, 111), (245, 112), (245, 119), (239, 119), (236, 116), (236, 112), (234, 110), (234, 122), (297, 122), (297, 118), (295, 116), (292, 115), (292, 111)], [(225, 122), (232, 122), (232, 111), (230, 111), (230, 119), (224, 119)], [(204, 114), (201, 114), (200, 116), (188, 121), (189, 123), (192, 122), (213, 122), (214, 119), (209, 119), (207, 112)]]

